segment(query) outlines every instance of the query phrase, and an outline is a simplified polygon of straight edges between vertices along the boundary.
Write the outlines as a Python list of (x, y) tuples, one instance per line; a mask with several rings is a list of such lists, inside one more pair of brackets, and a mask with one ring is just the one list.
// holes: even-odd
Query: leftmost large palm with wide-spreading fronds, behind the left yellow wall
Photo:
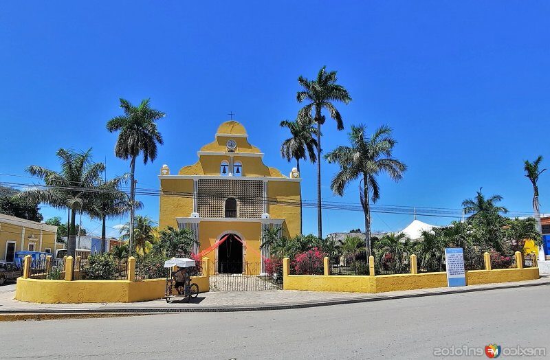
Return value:
[(47, 203), (57, 209), (68, 209), (70, 213), (67, 254), (76, 256), (76, 214), (83, 212), (95, 196), (91, 188), (101, 177), (105, 166), (91, 161), (91, 148), (83, 153), (60, 148), (56, 153), (61, 161), (61, 171), (56, 172), (43, 166), (32, 165), (26, 171), (43, 179), (45, 187), (36, 187), (16, 196), (34, 202)]

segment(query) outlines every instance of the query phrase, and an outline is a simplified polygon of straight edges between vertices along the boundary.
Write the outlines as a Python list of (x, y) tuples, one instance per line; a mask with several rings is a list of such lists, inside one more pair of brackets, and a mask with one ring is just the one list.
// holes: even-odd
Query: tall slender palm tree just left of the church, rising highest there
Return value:
[[(149, 99), (133, 106), (128, 100), (120, 99), (124, 115), (113, 117), (107, 122), (107, 131), (120, 131), (115, 145), (115, 155), (120, 159), (130, 159), (130, 203), (135, 201), (135, 159), (143, 153), (143, 164), (157, 157), (157, 144), (163, 144), (162, 135), (157, 130), (157, 120), (166, 116), (162, 111), (151, 109)], [(130, 226), (134, 224), (134, 206), (130, 206)], [(133, 231), (130, 234), (130, 251), (133, 251)]]

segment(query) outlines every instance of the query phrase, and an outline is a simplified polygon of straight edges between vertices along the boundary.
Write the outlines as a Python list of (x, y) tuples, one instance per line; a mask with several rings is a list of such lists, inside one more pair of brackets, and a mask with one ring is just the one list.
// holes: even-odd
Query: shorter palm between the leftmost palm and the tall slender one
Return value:
[[(126, 183), (129, 175), (124, 174), (121, 177), (115, 177), (111, 180), (99, 179), (94, 190), (96, 194), (89, 205), (89, 215), (91, 218), (98, 218), (101, 221), (101, 252), (107, 249), (106, 223), (107, 218), (122, 216), (130, 210), (130, 201), (128, 195), (120, 190), (120, 185)], [(134, 201), (135, 210), (142, 208), (140, 201)]]

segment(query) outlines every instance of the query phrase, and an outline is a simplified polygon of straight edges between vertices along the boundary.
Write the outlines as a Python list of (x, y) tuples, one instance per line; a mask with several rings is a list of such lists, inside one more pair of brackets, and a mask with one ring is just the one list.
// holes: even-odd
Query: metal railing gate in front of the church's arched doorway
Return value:
[(210, 291), (283, 289), (282, 262), (210, 262)]

